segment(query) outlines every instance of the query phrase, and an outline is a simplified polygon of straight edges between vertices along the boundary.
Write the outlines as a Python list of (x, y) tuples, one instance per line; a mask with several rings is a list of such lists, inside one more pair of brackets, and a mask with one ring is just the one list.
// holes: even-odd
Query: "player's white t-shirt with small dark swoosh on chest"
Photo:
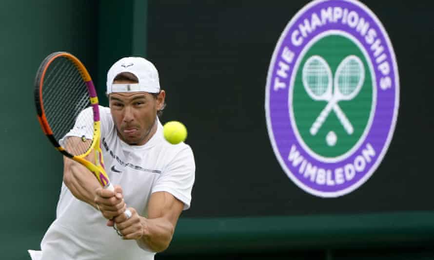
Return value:
[[(86, 113), (90, 111), (83, 111)], [(104, 166), (113, 185), (122, 187), (125, 203), (147, 216), (150, 195), (167, 191), (190, 207), (195, 180), (192, 149), (171, 145), (157, 122), (154, 136), (142, 146), (130, 146), (119, 139), (110, 109), (99, 107), (101, 149)], [(80, 114), (81, 116), (81, 114)], [(68, 135), (88, 136), (75, 127)], [(29, 250), (33, 260), (152, 260), (155, 253), (134, 240), (122, 240), (93, 206), (76, 199), (62, 183), (57, 218), (41, 241), (41, 251)]]

